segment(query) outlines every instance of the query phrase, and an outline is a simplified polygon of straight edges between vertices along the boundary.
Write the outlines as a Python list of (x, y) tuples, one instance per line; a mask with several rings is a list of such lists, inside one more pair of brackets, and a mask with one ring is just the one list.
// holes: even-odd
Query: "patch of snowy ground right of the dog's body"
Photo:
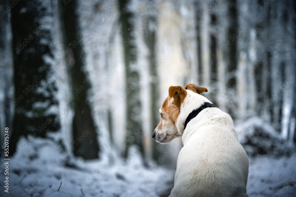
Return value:
[(280, 159), (265, 159), (260, 156), (249, 158), (249, 161), (247, 183), (249, 196), (296, 195), (296, 154)]

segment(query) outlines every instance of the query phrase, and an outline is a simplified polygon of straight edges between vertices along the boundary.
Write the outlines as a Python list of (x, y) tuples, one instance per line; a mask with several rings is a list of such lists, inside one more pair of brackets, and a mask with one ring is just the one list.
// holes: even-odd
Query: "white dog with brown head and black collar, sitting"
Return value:
[(200, 95), (207, 88), (171, 86), (152, 138), (165, 144), (182, 137), (169, 197), (247, 197), (249, 159), (231, 116)]

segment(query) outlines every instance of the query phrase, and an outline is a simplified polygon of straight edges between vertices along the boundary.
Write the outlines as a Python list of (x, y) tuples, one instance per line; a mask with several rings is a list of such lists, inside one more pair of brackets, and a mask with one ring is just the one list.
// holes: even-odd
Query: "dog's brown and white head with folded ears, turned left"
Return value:
[(168, 89), (168, 97), (159, 110), (161, 116), (160, 123), (152, 133), (152, 138), (156, 141), (165, 144), (176, 137), (181, 137), (181, 134), (178, 133), (176, 121), (180, 114), (181, 104), (187, 96), (187, 90), (191, 90), (197, 94), (207, 92), (206, 88), (195, 84), (189, 84), (185, 88), (171, 86)]

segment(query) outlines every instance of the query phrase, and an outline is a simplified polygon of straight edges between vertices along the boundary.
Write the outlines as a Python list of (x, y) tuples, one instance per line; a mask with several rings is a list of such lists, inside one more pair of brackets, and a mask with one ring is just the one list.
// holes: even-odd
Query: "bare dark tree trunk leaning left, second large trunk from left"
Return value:
[[(67, 102), (72, 103), (74, 154), (84, 159), (99, 158), (100, 147), (97, 140), (97, 127), (94, 124), (92, 110), (87, 93), (91, 81), (85, 74), (85, 54), (83, 51), (83, 37), (86, 32), (81, 32), (77, 16), (77, 0), (64, 4), (60, 1), (62, 23), (64, 25), (64, 52), (67, 58), (67, 67), (70, 76), (71, 95)], [(69, 17), (71, 15), (71, 17)]]

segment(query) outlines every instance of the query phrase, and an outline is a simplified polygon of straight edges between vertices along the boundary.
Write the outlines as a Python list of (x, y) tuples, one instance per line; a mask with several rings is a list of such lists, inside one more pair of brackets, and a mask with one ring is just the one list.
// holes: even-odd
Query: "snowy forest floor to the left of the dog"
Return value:
[[(25, 141), (22, 138), (19, 145)], [(56, 159), (63, 158), (62, 154), (65, 159), (58, 164)], [(131, 148), (129, 155), (126, 162), (107, 166), (99, 160), (86, 162), (81, 158), (74, 159), (55, 142), (36, 138), (24, 149), (18, 149), (9, 160), (9, 193), (1, 190), (0, 196), (155, 197), (168, 194), (174, 172), (155, 168), (153, 164), (150, 168), (143, 167), (135, 147)], [(3, 176), (2, 171), (1, 180), (4, 180)], [(57, 191), (61, 182), (61, 188)]]

